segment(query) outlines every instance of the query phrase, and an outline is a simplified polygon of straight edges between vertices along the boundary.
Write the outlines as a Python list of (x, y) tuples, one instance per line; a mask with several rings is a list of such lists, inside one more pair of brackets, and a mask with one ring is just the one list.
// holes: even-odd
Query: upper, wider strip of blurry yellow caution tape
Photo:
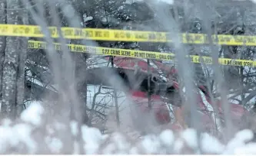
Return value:
[[(59, 37), (56, 27), (49, 27), (51, 36)], [(171, 33), (156, 31), (125, 31), (98, 28), (61, 28), (62, 36), (68, 39), (95, 41), (171, 42)], [(0, 24), (0, 36), (45, 37), (37, 25)], [(218, 34), (212, 35), (214, 44), (256, 46), (256, 36)], [(209, 44), (207, 34), (181, 34), (184, 44)]]

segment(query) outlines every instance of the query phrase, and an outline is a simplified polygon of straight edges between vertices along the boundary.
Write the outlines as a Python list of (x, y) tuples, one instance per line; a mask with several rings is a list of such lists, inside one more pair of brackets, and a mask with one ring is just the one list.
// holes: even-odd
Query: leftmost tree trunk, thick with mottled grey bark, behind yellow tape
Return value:
[[(24, 13), (21, 13), (21, 11), (24, 10), (21, 8), (19, 0), (7, 1), (7, 24), (23, 24)], [(6, 37), (5, 61), (2, 75), (2, 115), (11, 119), (15, 118), (15, 106), (17, 105), (18, 95), (17, 86), (20, 85), (18, 86), (19, 90), (23, 88), (22, 92), (24, 92), (24, 78), (20, 77), (22, 77), (22, 69), (24, 70), (25, 67), (25, 64), (22, 63), (26, 53), (25, 43), (27, 43), (25, 37)], [(19, 59), (21, 59), (20, 62)], [(20, 67), (20, 73), (18, 71), (19, 65), (23, 65), (23, 67)], [(23, 79), (23, 83), (17, 83), (18, 76), (20, 81)], [(19, 92), (18, 100), (23, 102), (23, 93)]]

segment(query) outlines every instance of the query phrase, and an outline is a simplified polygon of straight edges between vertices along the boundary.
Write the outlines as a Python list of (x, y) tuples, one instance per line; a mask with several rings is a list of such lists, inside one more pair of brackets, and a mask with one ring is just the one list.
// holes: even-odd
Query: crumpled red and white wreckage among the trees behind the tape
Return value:
[[(94, 58), (91, 57), (88, 61), (90, 59)], [(104, 109), (105, 114), (110, 113), (107, 109), (111, 106), (105, 106), (103, 103), (118, 102), (118, 106), (113, 108), (118, 107), (122, 111), (119, 120), (131, 122), (130, 125), (141, 132), (147, 132), (148, 125), (177, 131), (191, 126), (188, 112), (184, 111), (183, 106), (184, 89), (178, 83), (178, 72), (174, 66), (159, 61), (148, 63), (147, 60), (125, 57), (101, 57), (101, 59), (97, 57), (95, 64), (86, 70), (85, 80), (88, 85), (87, 106), (88, 109), (93, 110), (89, 113), (90, 118), (97, 111), (96, 109)], [(121, 83), (118, 84), (118, 81)], [(39, 86), (37, 84), (38, 88)], [(193, 92), (196, 96), (196, 110), (201, 120), (198, 122), (202, 122), (203, 125), (201, 130), (211, 133), (221, 132), (224, 126), (221, 100), (210, 98), (205, 86), (196, 84), (195, 86)], [(113, 90), (119, 95), (118, 97), (113, 98), (111, 94)], [(55, 93), (56, 90), (51, 92)], [(126, 104), (122, 103), (125, 100)], [(239, 127), (241, 121), (248, 117), (249, 112), (241, 105), (230, 104), (232, 122)], [(124, 111), (127, 108), (129, 112)], [(103, 119), (104, 113), (99, 113), (98, 116), (102, 115), (100, 118)]]

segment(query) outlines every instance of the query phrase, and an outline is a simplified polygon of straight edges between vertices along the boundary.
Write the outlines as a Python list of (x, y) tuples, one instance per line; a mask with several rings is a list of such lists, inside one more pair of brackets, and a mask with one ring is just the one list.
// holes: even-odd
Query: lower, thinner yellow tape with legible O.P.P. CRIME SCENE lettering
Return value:
[[(54, 43), (55, 50), (62, 50), (62, 45)], [(28, 48), (30, 49), (46, 49), (47, 44), (42, 41), (28, 41)], [(108, 47), (91, 47), (79, 44), (66, 44), (66, 47), (71, 52), (90, 53), (96, 55), (107, 55), (116, 57), (131, 57), (144, 58), (155, 60), (175, 60), (175, 54), (159, 53), (154, 51), (143, 50), (126, 50)], [(190, 55), (193, 63), (212, 64), (211, 57), (200, 57), (197, 55)], [(219, 58), (218, 62), (222, 65), (240, 66), (240, 67), (256, 67), (256, 61), (253, 60), (233, 60), (229, 58)]]

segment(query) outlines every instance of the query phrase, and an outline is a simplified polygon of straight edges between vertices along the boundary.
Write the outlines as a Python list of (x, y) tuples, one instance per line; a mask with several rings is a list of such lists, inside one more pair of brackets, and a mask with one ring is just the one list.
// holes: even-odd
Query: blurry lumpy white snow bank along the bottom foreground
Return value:
[(0, 154), (256, 154), (248, 129), (238, 132), (227, 145), (206, 133), (197, 135), (193, 129), (176, 134), (165, 130), (135, 139), (121, 132), (102, 135), (86, 125), (78, 128), (75, 121), (68, 125), (48, 120), (45, 112), (39, 102), (33, 102), (20, 121), (3, 120)]

